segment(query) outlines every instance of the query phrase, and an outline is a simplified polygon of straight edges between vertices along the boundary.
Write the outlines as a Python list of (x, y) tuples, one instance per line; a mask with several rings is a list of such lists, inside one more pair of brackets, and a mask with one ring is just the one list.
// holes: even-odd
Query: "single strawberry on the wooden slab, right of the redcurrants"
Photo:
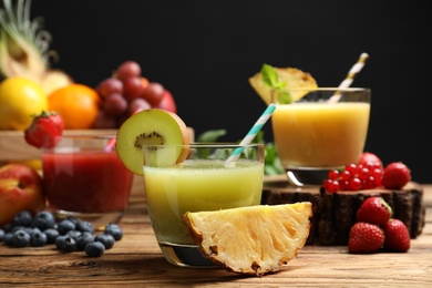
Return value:
[(393, 162), (387, 165), (381, 184), (388, 189), (400, 189), (411, 181), (411, 171), (402, 162)]

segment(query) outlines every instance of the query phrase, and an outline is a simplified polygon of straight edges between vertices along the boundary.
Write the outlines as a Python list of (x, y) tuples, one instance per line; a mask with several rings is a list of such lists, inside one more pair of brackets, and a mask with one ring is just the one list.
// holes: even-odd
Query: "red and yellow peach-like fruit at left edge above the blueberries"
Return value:
[(0, 167), (0, 227), (21, 210), (35, 214), (44, 208), (42, 177), (34, 168), (24, 164)]

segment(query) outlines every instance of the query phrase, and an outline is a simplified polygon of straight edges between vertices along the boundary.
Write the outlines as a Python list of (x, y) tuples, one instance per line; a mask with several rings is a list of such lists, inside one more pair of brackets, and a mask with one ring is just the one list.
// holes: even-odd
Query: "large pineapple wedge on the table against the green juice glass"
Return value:
[(186, 213), (184, 219), (200, 253), (228, 271), (278, 271), (297, 256), (309, 236), (312, 204), (258, 205)]

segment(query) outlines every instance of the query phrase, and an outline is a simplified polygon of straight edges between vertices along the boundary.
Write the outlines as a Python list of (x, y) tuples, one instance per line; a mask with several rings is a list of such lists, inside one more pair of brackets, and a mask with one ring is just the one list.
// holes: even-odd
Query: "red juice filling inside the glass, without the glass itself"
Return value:
[(50, 208), (78, 213), (125, 209), (133, 174), (114, 150), (42, 153), (44, 193)]

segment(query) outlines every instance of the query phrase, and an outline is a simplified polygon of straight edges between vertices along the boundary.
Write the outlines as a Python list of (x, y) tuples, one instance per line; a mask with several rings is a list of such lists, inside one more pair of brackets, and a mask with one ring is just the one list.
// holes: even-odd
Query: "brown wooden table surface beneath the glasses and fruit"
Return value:
[(102, 257), (59, 253), (53, 245), (0, 245), (0, 286), (39, 287), (432, 287), (432, 185), (423, 185), (426, 225), (404, 254), (350, 255), (346, 246), (305, 246), (279, 272), (261, 278), (219, 268), (179, 268), (162, 256), (142, 178), (135, 177), (120, 225), (124, 237)]

